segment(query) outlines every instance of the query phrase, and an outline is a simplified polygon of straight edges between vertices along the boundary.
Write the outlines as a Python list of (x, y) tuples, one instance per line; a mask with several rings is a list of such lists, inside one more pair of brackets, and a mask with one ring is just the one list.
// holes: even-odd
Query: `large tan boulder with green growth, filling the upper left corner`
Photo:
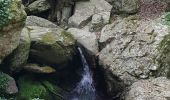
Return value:
[(26, 13), (20, 0), (0, 1), (0, 62), (19, 44)]

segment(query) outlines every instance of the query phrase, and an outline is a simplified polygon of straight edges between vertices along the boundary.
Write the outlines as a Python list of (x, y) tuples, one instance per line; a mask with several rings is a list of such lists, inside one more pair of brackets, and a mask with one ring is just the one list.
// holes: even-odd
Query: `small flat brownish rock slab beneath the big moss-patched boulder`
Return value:
[(56, 70), (50, 66), (38, 66), (37, 64), (27, 64), (24, 66), (24, 69), (33, 73), (43, 73), (49, 74), (54, 73)]

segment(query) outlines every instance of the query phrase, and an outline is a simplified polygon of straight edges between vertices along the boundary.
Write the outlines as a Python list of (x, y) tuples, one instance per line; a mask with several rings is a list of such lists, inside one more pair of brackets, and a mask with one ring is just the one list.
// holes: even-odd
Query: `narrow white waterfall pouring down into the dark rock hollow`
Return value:
[(69, 100), (95, 100), (96, 90), (94, 88), (91, 71), (81, 48), (78, 47), (78, 50), (80, 52), (81, 61), (83, 65), (82, 79), (77, 84), (76, 88), (72, 91)]

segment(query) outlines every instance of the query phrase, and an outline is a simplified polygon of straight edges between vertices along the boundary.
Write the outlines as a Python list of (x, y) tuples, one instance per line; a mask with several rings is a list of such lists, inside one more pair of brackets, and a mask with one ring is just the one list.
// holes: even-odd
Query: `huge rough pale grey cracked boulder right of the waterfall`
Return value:
[(161, 19), (144, 21), (130, 16), (117, 20), (103, 28), (99, 42), (102, 44), (100, 65), (125, 84), (152, 76), (168, 76), (169, 31)]

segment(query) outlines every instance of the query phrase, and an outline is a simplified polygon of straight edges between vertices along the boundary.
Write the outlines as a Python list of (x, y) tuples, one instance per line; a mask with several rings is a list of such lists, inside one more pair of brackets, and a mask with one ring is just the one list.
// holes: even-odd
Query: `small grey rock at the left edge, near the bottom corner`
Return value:
[(18, 92), (15, 80), (9, 75), (0, 72), (0, 96), (15, 94)]

